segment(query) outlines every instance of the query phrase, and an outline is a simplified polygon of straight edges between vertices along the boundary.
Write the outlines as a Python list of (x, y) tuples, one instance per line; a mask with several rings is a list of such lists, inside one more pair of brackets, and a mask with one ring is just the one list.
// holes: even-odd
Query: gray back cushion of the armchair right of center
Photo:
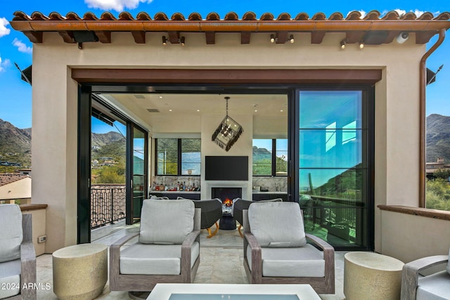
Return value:
[(250, 231), (261, 247), (303, 247), (307, 244), (296, 202), (262, 202), (248, 208)]

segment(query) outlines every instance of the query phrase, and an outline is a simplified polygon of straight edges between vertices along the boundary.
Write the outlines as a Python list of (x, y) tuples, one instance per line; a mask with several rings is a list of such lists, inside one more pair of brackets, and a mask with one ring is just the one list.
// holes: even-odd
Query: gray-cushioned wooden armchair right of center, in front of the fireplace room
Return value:
[(334, 294), (334, 248), (304, 233), (298, 203), (252, 204), (243, 211), (243, 223), (244, 268), (249, 282), (304, 283), (319, 294)]

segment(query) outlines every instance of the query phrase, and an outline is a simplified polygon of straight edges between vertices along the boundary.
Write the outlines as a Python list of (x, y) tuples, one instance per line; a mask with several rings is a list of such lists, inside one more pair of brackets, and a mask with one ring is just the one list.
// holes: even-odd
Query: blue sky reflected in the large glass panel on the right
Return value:
[(362, 92), (300, 92), (300, 190), (362, 162)]

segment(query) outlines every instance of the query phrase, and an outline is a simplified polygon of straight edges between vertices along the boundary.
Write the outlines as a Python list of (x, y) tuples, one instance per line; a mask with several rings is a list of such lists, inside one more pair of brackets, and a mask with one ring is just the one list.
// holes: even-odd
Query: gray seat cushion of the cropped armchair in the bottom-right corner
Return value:
[(416, 293), (417, 300), (450, 299), (450, 274), (441, 271), (419, 278)]

